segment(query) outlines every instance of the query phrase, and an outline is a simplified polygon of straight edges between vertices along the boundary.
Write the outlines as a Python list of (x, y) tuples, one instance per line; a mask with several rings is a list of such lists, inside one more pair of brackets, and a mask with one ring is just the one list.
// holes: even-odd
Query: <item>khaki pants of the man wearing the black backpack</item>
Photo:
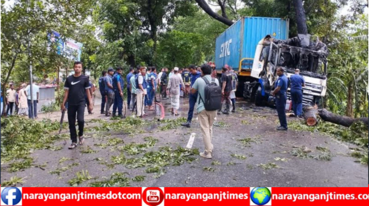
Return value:
[(217, 111), (206, 111), (200, 112), (197, 117), (200, 122), (201, 131), (203, 132), (203, 140), (205, 144), (205, 152), (212, 152), (213, 144), (211, 140), (213, 139), (213, 122), (216, 117)]

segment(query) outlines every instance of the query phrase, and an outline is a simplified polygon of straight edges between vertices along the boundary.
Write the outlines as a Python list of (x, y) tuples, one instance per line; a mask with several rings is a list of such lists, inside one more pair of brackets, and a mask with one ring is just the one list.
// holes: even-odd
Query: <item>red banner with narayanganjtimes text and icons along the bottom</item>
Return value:
[(2, 187), (1, 189), (1, 205), (363, 205), (368, 202), (368, 188)]

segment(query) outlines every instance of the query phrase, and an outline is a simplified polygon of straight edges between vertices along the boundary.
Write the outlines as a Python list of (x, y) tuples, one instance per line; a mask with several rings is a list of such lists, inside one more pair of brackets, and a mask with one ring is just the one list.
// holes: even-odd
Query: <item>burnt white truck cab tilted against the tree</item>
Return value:
[[(263, 38), (257, 45), (251, 69), (251, 77), (257, 80), (245, 82), (243, 96), (255, 101), (257, 106), (273, 106), (275, 99), (271, 91), (278, 79), (276, 68), (285, 68), (288, 78), (295, 74), (295, 68), (299, 68), (305, 80), (305, 87), (302, 88), (303, 105), (319, 105), (327, 90), (327, 54), (312, 48), (291, 46), (269, 35)], [(291, 99), (290, 90), (289, 86), (288, 99)]]

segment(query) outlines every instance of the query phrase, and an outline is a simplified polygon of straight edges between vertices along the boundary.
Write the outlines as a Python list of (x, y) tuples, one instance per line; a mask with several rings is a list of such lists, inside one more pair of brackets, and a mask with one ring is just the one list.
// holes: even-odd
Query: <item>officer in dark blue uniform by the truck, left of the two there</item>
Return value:
[(272, 91), (272, 95), (275, 96), (275, 106), (278, 112), (278, 118), (280, 126), (277, 127), (277, 130), (287, 130), (287, 119), (286, 119), (286, 101), (287, 101), (287, 87), (288, 87), (288, 79), (284, 74), (285, 70), (283, 67), (277, 68), (278, 79), (274, 84), (274, 90)]

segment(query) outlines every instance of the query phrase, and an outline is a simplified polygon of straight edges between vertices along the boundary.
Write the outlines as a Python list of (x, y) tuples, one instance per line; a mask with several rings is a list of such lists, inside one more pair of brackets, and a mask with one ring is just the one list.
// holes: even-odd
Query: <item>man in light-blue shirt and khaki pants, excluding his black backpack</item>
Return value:
[(208, 111), (205, 109), (204, 100), (200, 100), (200, 97), (205, 98), (205, 87), (207, 83), (204, 79), (207, 79), (208, 82), (212, 82), (214, 80), (215, 84), (219, 86), (219, 81), (216, 78), (212, 78), (211, 68), (208, 64), (203, 64), (201, 66), (201, 71), (203, 73), (202, 78), (197, 78), (195, 83), (192, 85), (191, 93), (197, 95), (197, 117), (200, 122), (201, 131), (203, 133), (203, 140), (205, 145), (205, 151), (200, 153), (200, 156), (204, 158), (212, 158), (213, 152), (213, 144), (211, 143), (213, 139), (213, 122), (214, 118), (217, 115), (217, 111)]

